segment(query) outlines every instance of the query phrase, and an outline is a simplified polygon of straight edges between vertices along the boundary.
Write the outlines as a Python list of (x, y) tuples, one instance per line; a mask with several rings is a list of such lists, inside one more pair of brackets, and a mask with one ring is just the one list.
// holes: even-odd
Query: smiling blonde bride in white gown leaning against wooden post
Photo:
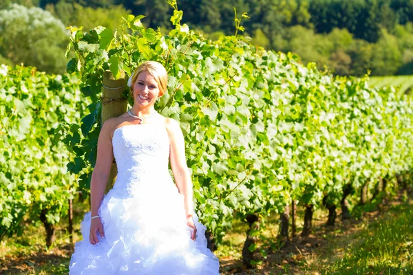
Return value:
[[(129, 79), (134, 106), (102, 126), (91, 211), (81, 222), (83, 240), (70, 260), (72, 275), (219, 274), (206, 228), (193, 212), (182, 131), (153, 107), (167, 78), (160, 63), (142, 63)], [(114, 158), (118, 175), (104, 195)]]

